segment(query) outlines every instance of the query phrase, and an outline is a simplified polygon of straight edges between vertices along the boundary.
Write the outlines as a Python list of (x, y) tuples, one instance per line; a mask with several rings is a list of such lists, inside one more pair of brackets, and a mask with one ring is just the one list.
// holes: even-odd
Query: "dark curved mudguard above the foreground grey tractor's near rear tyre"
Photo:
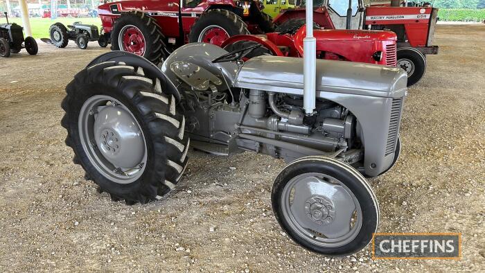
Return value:
[(162, 73), (160, 69), (149, 60), (125, 51), (110, 51), (94, 58), (94, 60), (87, 64), (86, 68), (102, 62), (123, 62), (132, 67), (141, 67), (148, 78), (158, 78), (160, 80), (161, 89), (164, 90), (166, 94), (173, 95), (175, 100), (177, 100), (177, 103), (180, 101), (180, 93), (173, 82), (171, 82), (170, 78)]

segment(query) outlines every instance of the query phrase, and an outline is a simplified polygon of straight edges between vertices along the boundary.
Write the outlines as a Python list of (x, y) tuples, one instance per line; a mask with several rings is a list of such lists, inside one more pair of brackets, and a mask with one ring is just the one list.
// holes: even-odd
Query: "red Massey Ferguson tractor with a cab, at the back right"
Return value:
[[(365, 0), (323, 0), (313, 12), (313, 21), (326, 29), (391, 30), (396, 33), (398, 67), (407, 72), (408, 85), (423, 78), (426, 55), (437, 54), (432, 45), (438, 9), (429, 4), (404, 7), (399, 1), (391, 5), (369, 6)], [(273, 23), (305, 18), (305, 8), (283, 10)]]

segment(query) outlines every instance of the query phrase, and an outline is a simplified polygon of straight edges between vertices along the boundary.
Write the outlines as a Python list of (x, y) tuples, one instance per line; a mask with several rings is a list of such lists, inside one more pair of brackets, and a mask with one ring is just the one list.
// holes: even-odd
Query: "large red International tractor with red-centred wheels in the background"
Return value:
[(98, 13), (113, 50), (159, 63), (187, 42), (220, 45), (233, 35), (273, 31), (261, 8), (258, 1), (129, 0), (105, 3)]

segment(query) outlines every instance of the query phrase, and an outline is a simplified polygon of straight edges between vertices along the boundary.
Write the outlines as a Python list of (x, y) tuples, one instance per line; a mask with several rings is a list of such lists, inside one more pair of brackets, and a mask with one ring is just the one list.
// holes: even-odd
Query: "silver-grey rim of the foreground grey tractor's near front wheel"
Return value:
[(283, 188), (281, 208), (292, 231), (319, 247), (349, 244), (362, 228), (362, 209), (355, 195), (322, 173), (293, 177)]

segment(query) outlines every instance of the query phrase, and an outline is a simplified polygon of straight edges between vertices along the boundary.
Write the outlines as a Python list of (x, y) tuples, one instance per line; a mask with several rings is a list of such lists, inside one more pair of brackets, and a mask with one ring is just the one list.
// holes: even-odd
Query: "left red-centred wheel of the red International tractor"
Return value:
[(111, 34), (111, 46), (114, 51), (134, 53), (159, 64), (166, 58), (167, 46), (164, 39), (157, 21), (136, 10), (125, 12), (116, 20)]

